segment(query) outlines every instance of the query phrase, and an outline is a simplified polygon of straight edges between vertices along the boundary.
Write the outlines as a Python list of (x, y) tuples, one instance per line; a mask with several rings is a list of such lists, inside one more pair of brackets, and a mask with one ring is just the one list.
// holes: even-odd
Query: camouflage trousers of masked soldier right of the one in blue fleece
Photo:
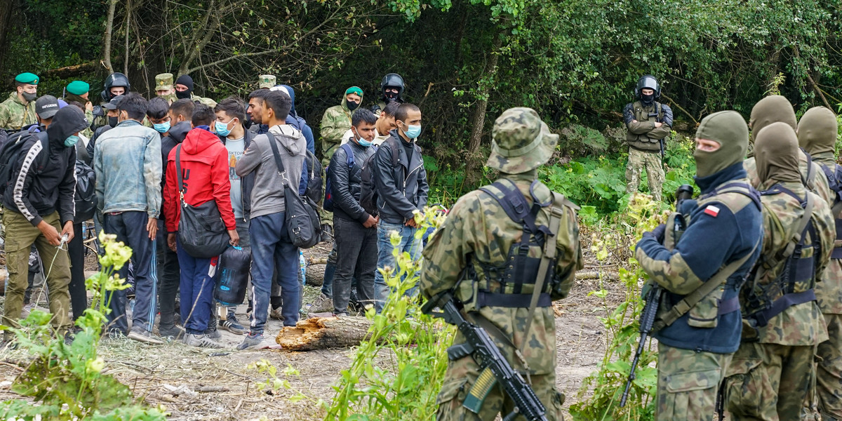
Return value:
[(740, 344), (725, 379), (730, 419), (799, 419), (814, 382), (814, 353), (814, 346)]

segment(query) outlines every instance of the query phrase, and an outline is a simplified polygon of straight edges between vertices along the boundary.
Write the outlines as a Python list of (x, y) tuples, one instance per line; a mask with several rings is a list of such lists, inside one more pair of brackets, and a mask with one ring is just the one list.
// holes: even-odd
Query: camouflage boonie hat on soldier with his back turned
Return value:
[(489, 168), (504, 173), (525, 173), (538, 168), (552, 157), (558, 135), (541, 121), (534, 109), (518, 107), (507, 109), (494, 121), (491, 132)]

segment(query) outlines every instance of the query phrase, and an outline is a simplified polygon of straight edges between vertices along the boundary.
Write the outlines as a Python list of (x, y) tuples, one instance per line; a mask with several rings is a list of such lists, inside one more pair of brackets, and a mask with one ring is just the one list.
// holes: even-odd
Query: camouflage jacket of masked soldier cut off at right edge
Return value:
[[(818, 163), (821, 167), (828, 168), (831, 173), (835, 171), (836, 159), (833, 152), (817, 153), (813, 155), (813, 162)], [(816, 178), (827, 181), (827, 175), (821, 171), (816, 175)], [(828, 205), (833, 206), (834, 191), (829, 188), (818, 189), (815, 193), (821, 196)], [(842, 213), (834, 215), (834, 217), (842, 218)], [(842, 240), (834, 242), (834, 247), (839, 246), (842, 246)], [(816, 298), (818, 298), (818, 306), (824, 314), (842, 314), (842, 259), (830, 259), (828, 267), (824, 269), (822, 274), (821, 282), (816, 285)]]

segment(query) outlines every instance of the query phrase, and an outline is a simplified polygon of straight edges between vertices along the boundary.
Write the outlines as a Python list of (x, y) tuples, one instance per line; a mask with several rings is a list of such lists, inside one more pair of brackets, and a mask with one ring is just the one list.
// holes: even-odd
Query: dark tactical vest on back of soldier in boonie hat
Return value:
[[(546, 239), (548, 237), (554, 238), (555, 235), (549, 227), (536, 225), (536, 216), (538, 216), (541, 208), (553, 205), (553, 199), (544, 203), (536, 200), (533, 191), (536, 184), (538, 184), (537, 180), (533, 181), (530, 185), (530, 194), (533, 200), (531, 206), (511, 180), (500, 180), (494, 184), (480, 188), (483, 193), (497, 200), (512, 221), (523, 226), (523, 235), (520, 237), (520, 242), (514, 242), (511, 248), (509, 248), (509, 253), (506, 256), (504, 264), (486, 264), (471, 258), (471, 256), (468, 257), (465, 277), (477, 284), (476, 296), (473, 300), (473, 305), (477, 309), (483, 306), (530, 306), (530, 299), (538, 278), (538, 268), (541, 264), (541, 256), (544, 253)], [(559, 201), (563, 203), (566, 199), (563, 199), (563, 196), (561, 196), (561, 200), (556, 200), (556, 203)], [(554, 206), (550, 217), (561, 219), (563, 216), (562, 212), (562, 208), (556, 209)], [(552, 258), (549, 269), (546, 270), (541, 295), (537, 302), (537, 306), (539, 307), (552, 305), (549, 291), (552, 290), (553, 272), (559, 257)], [(485, 275), (485, 280), (481, 281), (477, 277), (477, 273), (480, 271)], [(531, 286), (525, 289), (525, 285)]]

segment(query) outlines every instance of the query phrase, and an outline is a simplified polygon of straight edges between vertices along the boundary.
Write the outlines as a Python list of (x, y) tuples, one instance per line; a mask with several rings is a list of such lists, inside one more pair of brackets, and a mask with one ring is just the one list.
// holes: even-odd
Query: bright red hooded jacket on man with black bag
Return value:
[[(237, 229), (231, 207), (231, 180), (228, 178), (228, 151), (219, 137), (205, 129), (195, 128), (181, 142), (180, 167), (184, 184), (184, 203), (198, 206), (216, 200), (216, 208), (228, 230)], [(164, 219), (167, 232), (179, 231), (181, 205), (176, 170), (179, 147), (169, 152), (167, 187), (164, 188)]]

